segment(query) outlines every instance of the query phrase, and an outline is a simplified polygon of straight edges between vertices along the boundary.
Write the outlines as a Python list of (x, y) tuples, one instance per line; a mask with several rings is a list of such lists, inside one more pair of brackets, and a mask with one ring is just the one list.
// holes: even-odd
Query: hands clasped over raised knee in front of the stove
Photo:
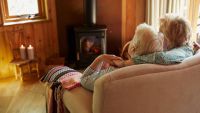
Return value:
[(103, 54), (103, 55), (98, 56), (90, 65), (90, 67), (95, 69), (97, 65), (101, 62), (103, 62), (102, 68), (115, 66), (115, 63), (113, 62), (114, 60), (122, 60), (122, 58), (115, 55), (111, 55), (111, 54)]

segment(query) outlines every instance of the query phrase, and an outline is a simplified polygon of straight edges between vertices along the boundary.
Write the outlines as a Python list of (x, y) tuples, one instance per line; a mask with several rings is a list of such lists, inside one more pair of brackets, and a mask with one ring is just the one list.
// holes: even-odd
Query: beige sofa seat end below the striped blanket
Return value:
[(63, 103), (70, 113), (92, 113), (92, 92), (82, 87), (65, 90)]

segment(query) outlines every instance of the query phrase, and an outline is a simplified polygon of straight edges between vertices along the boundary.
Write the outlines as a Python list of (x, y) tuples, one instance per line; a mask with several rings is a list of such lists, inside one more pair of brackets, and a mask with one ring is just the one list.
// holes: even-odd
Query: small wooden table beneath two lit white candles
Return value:
[(13, 60), (10, 62), (11, 64), (14, 65), (14, 70), (15, 70), (15, 78), (20, 80), (23, 80), (23, 75), (25, 73), (31, 74), (33, 71), (37, 72), (37, 76), (40, 77), (39, 75), (39, 68), (38, 68), (38, 61), (37, 60)]

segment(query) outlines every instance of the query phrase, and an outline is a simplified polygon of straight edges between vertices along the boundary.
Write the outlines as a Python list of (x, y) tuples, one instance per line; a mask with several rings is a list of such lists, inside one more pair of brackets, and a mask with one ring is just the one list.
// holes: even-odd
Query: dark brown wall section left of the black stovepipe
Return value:
[(68, 56), (68, 38), (72, 27), (84, 24), (84, 0), (56, 0), (58, 39), (61, 56)]

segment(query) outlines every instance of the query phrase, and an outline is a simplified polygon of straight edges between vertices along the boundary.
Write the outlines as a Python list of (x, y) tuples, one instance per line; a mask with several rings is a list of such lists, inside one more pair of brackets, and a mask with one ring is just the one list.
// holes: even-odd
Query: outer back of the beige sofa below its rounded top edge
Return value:
[[(185, 69), (95, 82), (94, 113), (196, 113), (200, 111), (200, 64)], [(129, 71), (130, 73), (130, 71)], [(124, 74), (124, 73), (122, 73)]]

